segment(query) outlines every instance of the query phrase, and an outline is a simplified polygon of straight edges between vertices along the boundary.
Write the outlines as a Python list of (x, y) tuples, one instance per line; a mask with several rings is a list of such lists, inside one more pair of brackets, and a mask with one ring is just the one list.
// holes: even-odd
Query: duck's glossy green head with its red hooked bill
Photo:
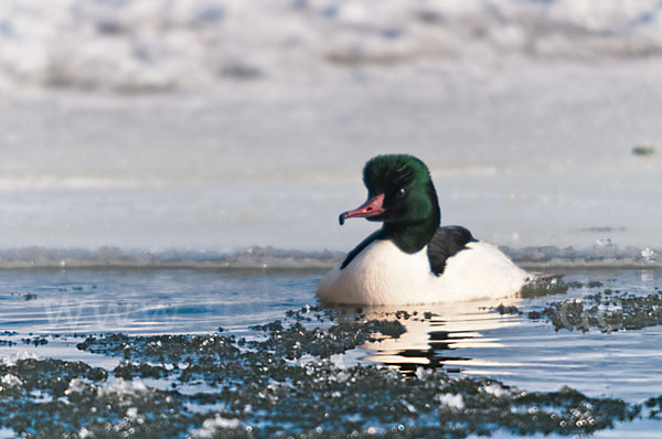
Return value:
[(340, 224), (351, 217), (383, 222), (388, 237), (406, 237), (394, 239), (403, 249), (418, 247), (423, 240), (425, 246), (431, 239), (441, 214), (424, 162), (407, 154), (377, 156), (365, 163), (363, 182), (367, 201), (341, 214)]

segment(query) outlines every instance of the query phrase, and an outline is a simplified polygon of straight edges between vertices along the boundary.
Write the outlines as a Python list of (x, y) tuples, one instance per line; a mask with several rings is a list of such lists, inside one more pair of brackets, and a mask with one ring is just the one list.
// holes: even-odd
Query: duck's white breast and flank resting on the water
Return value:
[(467, 247), (435, 276), (427, 247), (408, 255), (392, 240), (375, 240), (344, 269), (333, 268), (317, 295), (333, 303), (407, 304), (502, 298), (522, 288), (526, 272), (496, 247), (481, 242)]

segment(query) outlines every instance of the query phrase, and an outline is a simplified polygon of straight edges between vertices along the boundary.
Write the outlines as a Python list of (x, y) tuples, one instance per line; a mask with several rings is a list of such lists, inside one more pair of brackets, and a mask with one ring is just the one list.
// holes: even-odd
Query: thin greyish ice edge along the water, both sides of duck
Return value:
[[(619, 248), (601, 243), (588, 248), (501, 247), (517, 265), (527, 268), (662, 268), (662, 250), (636, 247)], [(342, 260), (342, 251), (307, 251), (274, 247), (247, 247), (223, 253), (167, 249), (146, 251), (102, 247), (43, 248), (24, 247), (0, 250), (0, 269), (14, 268), (192, 268), (227, 270), (318, 270)]]

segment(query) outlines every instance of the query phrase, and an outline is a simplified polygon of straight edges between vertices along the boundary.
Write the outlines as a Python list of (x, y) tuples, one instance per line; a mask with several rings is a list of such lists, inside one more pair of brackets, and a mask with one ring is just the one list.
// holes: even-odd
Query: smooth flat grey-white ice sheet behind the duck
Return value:
[(631, 148), (662, 138), (660, 74), (656, 61), (525, 63), (183, 96), (6, 98), (0, 248), (36, 265), (40, 248), (53, 260), (56, 249), (104, 246), (145, 260), (167, 249), (346, 251), (374, 229), (337, 224), (365, 199), (364, 162), (409, 152), (430, 167), (442, 222), (478, 238), (656, 249), (662, 161)]

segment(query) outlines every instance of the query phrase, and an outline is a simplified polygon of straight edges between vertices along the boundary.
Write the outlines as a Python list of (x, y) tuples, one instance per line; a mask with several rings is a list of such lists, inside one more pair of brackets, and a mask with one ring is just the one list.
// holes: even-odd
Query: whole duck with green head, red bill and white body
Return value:
[(409, 154), (363, 168), (367, 201), (339, 216), (381, 222), (318, 283), (321, 302), (397, 306), (515, 296), (528, 279), (499, 248), (462, 226), (441, 226), (429, 169)]

